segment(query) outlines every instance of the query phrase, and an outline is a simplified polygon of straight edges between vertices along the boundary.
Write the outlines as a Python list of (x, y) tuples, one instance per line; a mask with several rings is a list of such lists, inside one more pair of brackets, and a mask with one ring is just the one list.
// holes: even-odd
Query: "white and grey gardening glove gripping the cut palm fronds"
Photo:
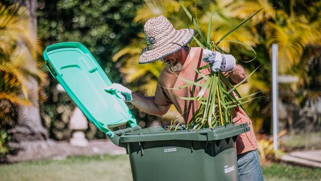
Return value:
[(209, 49), (203, 50), (203, 61), (209, 63), (213, 72), (232, 72), (235, 67), (235, 58), (230, 54), (221, 54)]

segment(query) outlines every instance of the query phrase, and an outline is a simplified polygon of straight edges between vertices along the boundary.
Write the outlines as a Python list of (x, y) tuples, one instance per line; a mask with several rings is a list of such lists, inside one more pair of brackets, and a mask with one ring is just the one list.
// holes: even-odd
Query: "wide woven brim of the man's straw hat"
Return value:
[(148, 47), (144, 48), (139, 56), (139, 64), (151, 63), (178, 51), (193, 39), (194, 33), (193, 29), (177, 30), (176, 37), (169, 40), (167, 45), (151, 50), (148, 50)]

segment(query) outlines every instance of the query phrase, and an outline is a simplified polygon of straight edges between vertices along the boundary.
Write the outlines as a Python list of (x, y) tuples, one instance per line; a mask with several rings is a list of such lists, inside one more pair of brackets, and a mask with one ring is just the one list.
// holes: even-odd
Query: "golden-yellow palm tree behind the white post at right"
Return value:
[[(293, 4), (290, 5), (293, 6)], [(309, 13), (294, 14), (293, 7), (290, 8), (292, 9), (291, 12), (286, 13), (284, 9), (273, 8), (272, 2), (268, 0), (239, 0), (231, 6), (231, 12), (234, 12), (232, 16), (242, 18), (243, 16), (251, 14), (255, 10), (254, 8), (261, 7), (264, 7), (262, 10), (263, 13), (254, 17), (252, 22), (253, 31), (258, 32), (260, 36), (259, 39), (261, 41), (258, 45), (260, 45), (260, 47), (264, 45), (265, 48), (262, 49), (266, 52), (271, 50), (270, 47), (272, 44), (276, 43), (279, 45), (279, 73), (299, 77), (297, 84), (280, 85), (280, 89), (284, 91), (295, 91), (306, 84), (308, 80), (307, 69), (309, 59), (311, 59), (310, 56), (314, 56), (308, 53), (309, 57), (304, 57), (304, 52), (310, 52), (309, 49), (320, 47), (321, 45), (320, 16), (317, 19), (312, 19), (309, 17)], [(248, 84), (243, 87), (244, 91), (247, 91), (246, 93), (257, 90), (271, 90), (271, 64), (269, 60), (269, 55), (266, 55), (265, 58), (261, 57), (259, 61), (265, 63), (265, 65), (262, 66), (263, 70), (261, 70), (261, 72), (265, 72), (265, 77), (261, 75), (252, 77)], [(264, 94), (266, 97), (269, 97), (271, 92), (265, 91)], [(266, 112), (267, 109), (269, 109), (268, 107), (271, 107), (269, 103), (270, 100), (267, 101), (267, 104), (261, 106), (261, 111), (265, 110)], [(250, 105), (253, 110), (252, 114), (259, 115), (260, 113), (255, 111), (253, 106), (259, 105), (257, 105), (255, 101)], [(257, 119), (260, 118), (257, 117)]]

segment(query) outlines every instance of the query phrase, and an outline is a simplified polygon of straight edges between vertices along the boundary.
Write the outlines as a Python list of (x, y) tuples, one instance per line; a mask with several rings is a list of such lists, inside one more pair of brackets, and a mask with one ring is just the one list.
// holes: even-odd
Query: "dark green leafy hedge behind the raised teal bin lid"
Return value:
[[(121, 83), (116, 62), (111, 58), (140, 31), (141, 25), (132, 20), (141, 3), (141, 0), (39, 0), (38, 35), (43, 48), (59, 42), (82, 43), (111, 81)], [(48, 99), (41, 107), (41, 117), (50, 137), (66, 140), (71, 137), (68, 124), (75, 104), (65, 92), (57, 90), (57, 83), (49, 78)], [(92, 124), (86, 136), (106, 137)]]

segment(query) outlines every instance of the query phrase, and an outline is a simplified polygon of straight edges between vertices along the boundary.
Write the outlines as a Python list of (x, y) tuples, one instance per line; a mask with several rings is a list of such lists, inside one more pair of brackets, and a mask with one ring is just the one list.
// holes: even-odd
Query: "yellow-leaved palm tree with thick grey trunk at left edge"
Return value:
[[(16, 126), (8, 130), (13, 149), (25, 148), (48, 137), (39, 112), (39, 84), (46, 75), (35, 61), (40, 47), (35, 21), (30, 18), (35, 13), (35, 3), (21, 2), (20, 7), (17, 3), (8, 7), (0, 4), (0, 100), (17, 105)], [(29, 9), (22, 6), (25, 4), (29, 4)]]

